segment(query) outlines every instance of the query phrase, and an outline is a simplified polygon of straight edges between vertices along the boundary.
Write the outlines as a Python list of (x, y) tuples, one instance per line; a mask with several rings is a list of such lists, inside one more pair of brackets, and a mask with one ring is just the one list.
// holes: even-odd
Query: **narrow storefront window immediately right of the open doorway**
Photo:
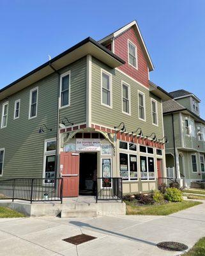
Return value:
[(102, 187), (103, 188), (111, 188), (112, 181), (112, 166), (111, 166), (111, 159), (110, 158), (103, 158), (102, 159)]

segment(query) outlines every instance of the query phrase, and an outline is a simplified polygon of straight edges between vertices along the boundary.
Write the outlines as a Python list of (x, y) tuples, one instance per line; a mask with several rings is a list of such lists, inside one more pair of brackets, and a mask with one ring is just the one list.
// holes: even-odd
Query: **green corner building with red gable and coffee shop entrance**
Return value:
[(64, 196), (89, 194), (96, 178), (121, 177), (123, 193), (156, 189), (165, 175), (162, 101), (171, 95), (149, 81), (152, 70), (133, 21), (1, 89), (1, 180), (63, 177)]

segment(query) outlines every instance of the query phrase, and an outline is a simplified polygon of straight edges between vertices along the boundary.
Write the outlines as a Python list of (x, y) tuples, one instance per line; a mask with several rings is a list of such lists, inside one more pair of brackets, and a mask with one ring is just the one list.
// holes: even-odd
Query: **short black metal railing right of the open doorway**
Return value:
[(98, 200), (120, 200), (123, 202), (122, 178), (98, 178), (96, 182), (96, 203)]

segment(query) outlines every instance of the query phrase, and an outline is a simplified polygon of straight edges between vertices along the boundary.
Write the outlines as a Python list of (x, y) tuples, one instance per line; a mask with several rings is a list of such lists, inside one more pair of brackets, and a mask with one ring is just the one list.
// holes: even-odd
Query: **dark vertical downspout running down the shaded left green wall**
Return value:
[(56, 70), (56, 68), (52, 67), (51, 63), (49, 63), (50, 68), (57, 73), (57, 125), (56, 125), (56, 161), (55, 161), (55, 178), (57, 178), (57, 166), (58, 166), (58, 152), (59, 152), (59, 99), (60, 99), (60, 76), (61, 74)]

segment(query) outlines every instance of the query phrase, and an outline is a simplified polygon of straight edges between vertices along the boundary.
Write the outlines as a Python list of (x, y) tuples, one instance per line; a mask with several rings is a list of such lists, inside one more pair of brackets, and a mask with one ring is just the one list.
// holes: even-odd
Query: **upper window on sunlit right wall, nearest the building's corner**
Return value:
[(111, 75), (108, 74), (107, 72), (102, 71), (101, 83), (102, 83), (101, 103), (105, 106), (112, 107)]

